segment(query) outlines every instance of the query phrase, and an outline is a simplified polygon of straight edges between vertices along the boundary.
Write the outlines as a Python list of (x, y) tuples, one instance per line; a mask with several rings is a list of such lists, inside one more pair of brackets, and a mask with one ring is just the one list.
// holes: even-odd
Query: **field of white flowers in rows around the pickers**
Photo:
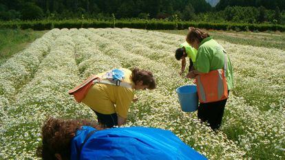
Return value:
[(176, 133), (209, 159), (285, 159), (285, 52), (218, 41), (234, 67), (235, 89), (214, 133), (180, 110), (174, 57), (184, 36), (134, 29), (54, 29), (0, 66), (0, 159), (36, 159), (49, 115), (96, 119), (67, 94), (94, 73), (116, 67), (152, 71), (154, 91), (138, 91), (126, 126)]

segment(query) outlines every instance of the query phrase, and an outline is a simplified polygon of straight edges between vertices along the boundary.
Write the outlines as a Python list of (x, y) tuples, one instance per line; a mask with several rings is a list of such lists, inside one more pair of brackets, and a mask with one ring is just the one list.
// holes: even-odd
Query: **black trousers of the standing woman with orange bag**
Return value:
[(217, 130), (222, 124), (222, 116), (224, 115), (226, 100), (200, 103), (198, 107), (198, 118), (201, 119), (202, 122), (207, 122), (213, 130)]

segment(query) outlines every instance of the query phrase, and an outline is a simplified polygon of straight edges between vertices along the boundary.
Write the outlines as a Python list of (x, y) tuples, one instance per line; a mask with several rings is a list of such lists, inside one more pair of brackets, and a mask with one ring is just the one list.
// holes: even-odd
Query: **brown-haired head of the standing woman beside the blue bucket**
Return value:
[(198, 49), (200, 43), (203, 41), (204, 38), (207, 37), (209, 37), (209, 34), (207, 32), (203, 32), (199, 28), (189, 27), (189, 32), (186, 36), (186, 41), (193, 48)]

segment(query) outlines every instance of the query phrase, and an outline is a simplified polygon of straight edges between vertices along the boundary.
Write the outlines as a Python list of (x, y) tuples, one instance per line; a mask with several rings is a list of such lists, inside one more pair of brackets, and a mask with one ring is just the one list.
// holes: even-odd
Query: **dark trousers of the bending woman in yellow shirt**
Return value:
[(97, 119), (98, 119), (99, 124), (101, 124), (107, 128), (112, 128), (113, 126), (118, 126), (118, 115), (117, 115), (117, 113), (105, 115), (102, 113), (98, 113), (96, 111), (94, 111), (94, 112), (97, 115)]

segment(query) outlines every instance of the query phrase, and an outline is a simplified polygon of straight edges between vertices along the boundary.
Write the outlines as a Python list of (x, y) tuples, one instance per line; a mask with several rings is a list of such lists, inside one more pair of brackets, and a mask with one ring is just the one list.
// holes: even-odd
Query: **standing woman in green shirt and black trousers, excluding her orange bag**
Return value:
[[(228, 92), (233, 89), (233, 68), (229, 55), (224, 54), (226, 53), (224, 48), (213, 40), (208, 33), (194, 27), (189, 27), (186, 41), (198, 50), (196, 63), (194, 64), (195, 70), (190, 71), (187, 74), (187, 78), (195, 78), (201, 73), (209, 73), (209, 71), (216, 69), (224, 69), (224, 56), (226, 56), (226, 83)], [(198, 106), (198, 118), (201, 119), (202, 122), (208, 122), (213, 130), (220, 128), (226, 100), (200, 103)]]

